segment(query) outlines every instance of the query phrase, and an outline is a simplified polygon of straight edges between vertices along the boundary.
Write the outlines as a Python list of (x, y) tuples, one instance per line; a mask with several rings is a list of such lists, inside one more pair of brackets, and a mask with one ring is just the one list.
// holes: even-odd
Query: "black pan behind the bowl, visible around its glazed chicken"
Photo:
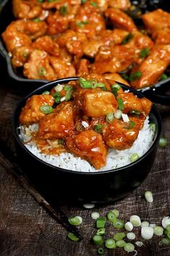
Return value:
[[(141, 25), (140, 17), (138, 17), (138, 11), (145, 13), (152, 11), (153, 9), (161, 8), (166, 12), (170, 12), (170, 3), (167, 3), (166, 0), (131, 0), (131, 3), (135, 6), (133, 11), (128, 12), (128, 15), (133, 17), (136, 25)], [(0, 1), (0, 54), (4, 58), (6, 64), (7, 74), (13, 83), (18, 85), (24, 85), (24, 88), (29, 85), (29, 88), (37, 88), (40, 85), (47, 83), (46, 80), (30, 80), (23, 76), (22, 72), (18, 72), (12, 67), (11, 58), (6, 51), (3, 40), (1, 38), (1, 33), (4, 32), (7, 25), (12, 22), (14, 15), (12, 14), (12, 1), (11, 0), (2, 0)], [(150, 98), (151, 101), (155, 103), (161, 103), (163, 105), (170, 105), (170, 94), (169, 94), (169, 83), (170, 78), (161, 82), (156, 83), (155, 86), (151, 88), (142, 89), (142, 92), (146, 95), (147, 98)]]

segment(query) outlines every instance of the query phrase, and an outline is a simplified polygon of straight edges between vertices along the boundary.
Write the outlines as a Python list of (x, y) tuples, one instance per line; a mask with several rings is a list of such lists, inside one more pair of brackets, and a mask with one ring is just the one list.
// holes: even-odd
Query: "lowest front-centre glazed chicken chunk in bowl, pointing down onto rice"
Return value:
[(99, 169), (106, 164), (107, 147), (104, 145), (102, 135), (93, 130), (68, 137), (66, 146), (71, 153), (90, 161), (94, 168)]

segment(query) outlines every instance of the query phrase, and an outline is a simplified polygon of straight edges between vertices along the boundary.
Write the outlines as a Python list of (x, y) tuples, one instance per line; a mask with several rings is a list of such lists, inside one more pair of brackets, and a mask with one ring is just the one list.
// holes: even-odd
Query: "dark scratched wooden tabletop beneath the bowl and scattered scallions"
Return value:
[[(11, 118), (18, 101), (31, 89), (27, 85), (16, 85), (10, 81), (0, 59), (0, 135), (6, 145), (14, 150), (14, 140), (11, 129)], [(164, 135), (170, 141), (170, 107), (159, 106), (163, 121)], [(0, 255), (12, 256), (52, 256), (97, 255), (96, 247), (91, 243), (95, 234), (94, 220), (91, 213), (97, 210), (105, 216), (112, 208), (120, 211), (120, 218), (128, 221), (133, 214), (150, 223), (161, 224), (161, 219), (170, 214), (170, 143), (166, 148), (158, 148), (156, 160), (151, 173), (145, 182), (123, 200), (110, 205), (103, 205), (92, 210), (86, 210), (81, 205), (68, 207), (60, 205), (68, 217), (81, 216), (83, 223), (79, 226), (84, 236), (81, 242), (71, 242), (67, 238), (66, 229), (52, 218), (42, 206), (14, 179), (9, 172), (9, 161), (0, 154)], [(138, 170), (136, 170), (138, 171)], [(87, 187), (88, 189), (88, 187)], [(148, 203), (143, 198), (146, 190), (153, 192), (154, 201)], [(107, 223), (107, 235), (112, 236), (115, 229)], [(136, 239), (143, 241), (140, 229), (135, 228)], [(136, 247), (138, 255), (170, 255), (170, 244), (160, 246), (159, 236), (153, 236), (151, 241), (143, 241), (143, 247)], [(123, 249), (105, 249), (104, 255), (134, 255)]]

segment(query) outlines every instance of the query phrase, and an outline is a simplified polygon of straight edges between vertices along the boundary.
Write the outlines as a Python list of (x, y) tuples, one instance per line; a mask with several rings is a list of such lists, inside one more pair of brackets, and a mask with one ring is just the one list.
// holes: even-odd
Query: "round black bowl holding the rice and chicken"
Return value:
[[(66, 83), (77, 79), (77, 77), (71, 77), (49, 82), (47, 85), (34, 90), (19, 103), (12, 119), (12, 131), (19, 163), (32, 184), (50, 201), (71, 203), (113, 202), (132, 192), (146, 179), (149, 171), (151, 171), (161, 135), (161, 117), (155, 106), (152, 107), (149, 115), (151, 123), (155, 123), (157, 127), (153, 145), (137, 161), (114, 170), (86, 173), (54, 167), (32, 155), (19, 140), (19, 129), (17, 129), (19, 114), (27, 98), (34, 94), (41, 94), (45, 90), (50, 90), (58, 83)], [(142, 93), (133, 88), (125, 85), (122, 85), (122, 88), (130, 90), (139, 98), (143, 97)]]

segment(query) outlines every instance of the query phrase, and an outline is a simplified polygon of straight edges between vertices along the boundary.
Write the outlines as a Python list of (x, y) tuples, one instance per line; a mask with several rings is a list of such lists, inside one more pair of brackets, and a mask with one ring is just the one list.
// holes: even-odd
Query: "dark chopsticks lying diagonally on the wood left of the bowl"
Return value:
[(50, 203), (47, 202), (45, 198), (40, 195), (39, 192), (37, 192), (35, 187), (30, 184), (30, 181), (23, 175), (22, 169), (19, 168), (17, 164), (17, 156), (14, 155), (14, 152), (10, 150), (2, 140), (0, 140), (0, 148), (0, 154), (4, 158), (6, 158), (5, 161), (1, 163), (2, 166), (4, 166), (4, 168), (7, 168), (14, 175), (19, 184), (21, 184), (22, 187), (24, 187), (24, 189), (26, 189), (27, 192), (29, 192), (30, 195), (32, 195), (32, 197), (34, 197), (35, 200), (40, 203), (40, 205), (48, 210), (48, 213), (50, 213), (53, 218), (61, 223), (61, 225), (65, 227), (67, 231), (79, 237), (79, 241), (83, 239), (83, 237), (79, 234), (79, 230), (76, 228), (76, 226), (72, 226), (71, 223), (69, 223), (68, 217), (65, 213), (63, 213), (61, 208), (58, 208), (58, 206), (53, 207), (52, 205), (50, 205)]

